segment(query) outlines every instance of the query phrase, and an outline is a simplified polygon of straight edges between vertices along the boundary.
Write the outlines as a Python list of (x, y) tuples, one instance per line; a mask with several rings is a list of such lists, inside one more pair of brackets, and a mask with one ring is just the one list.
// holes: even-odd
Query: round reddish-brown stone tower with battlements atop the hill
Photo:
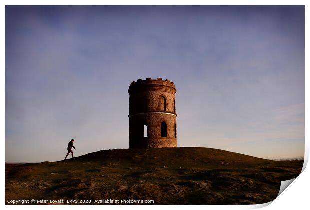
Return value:
[(129, 87), (129, 147), (176, 147), (175, 85), (162, 78)]

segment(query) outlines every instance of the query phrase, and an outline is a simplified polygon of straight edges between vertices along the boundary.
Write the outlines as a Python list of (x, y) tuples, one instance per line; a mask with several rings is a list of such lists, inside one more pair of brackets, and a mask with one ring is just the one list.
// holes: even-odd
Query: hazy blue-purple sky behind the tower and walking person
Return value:
[(176, 85), (177, 146), (304, 155), (304, 6), (5, 6), (5, 161), (129, 148), (132, 81)]

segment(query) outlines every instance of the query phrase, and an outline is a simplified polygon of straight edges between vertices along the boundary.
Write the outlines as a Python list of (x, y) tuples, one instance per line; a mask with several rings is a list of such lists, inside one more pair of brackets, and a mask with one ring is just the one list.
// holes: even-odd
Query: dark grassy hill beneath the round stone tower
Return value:
[(212, 148), (101, 150), (58, 162), (5, 164), (5, 200), (154, 200), (154, 204), (259, 204), (303, 161)]

